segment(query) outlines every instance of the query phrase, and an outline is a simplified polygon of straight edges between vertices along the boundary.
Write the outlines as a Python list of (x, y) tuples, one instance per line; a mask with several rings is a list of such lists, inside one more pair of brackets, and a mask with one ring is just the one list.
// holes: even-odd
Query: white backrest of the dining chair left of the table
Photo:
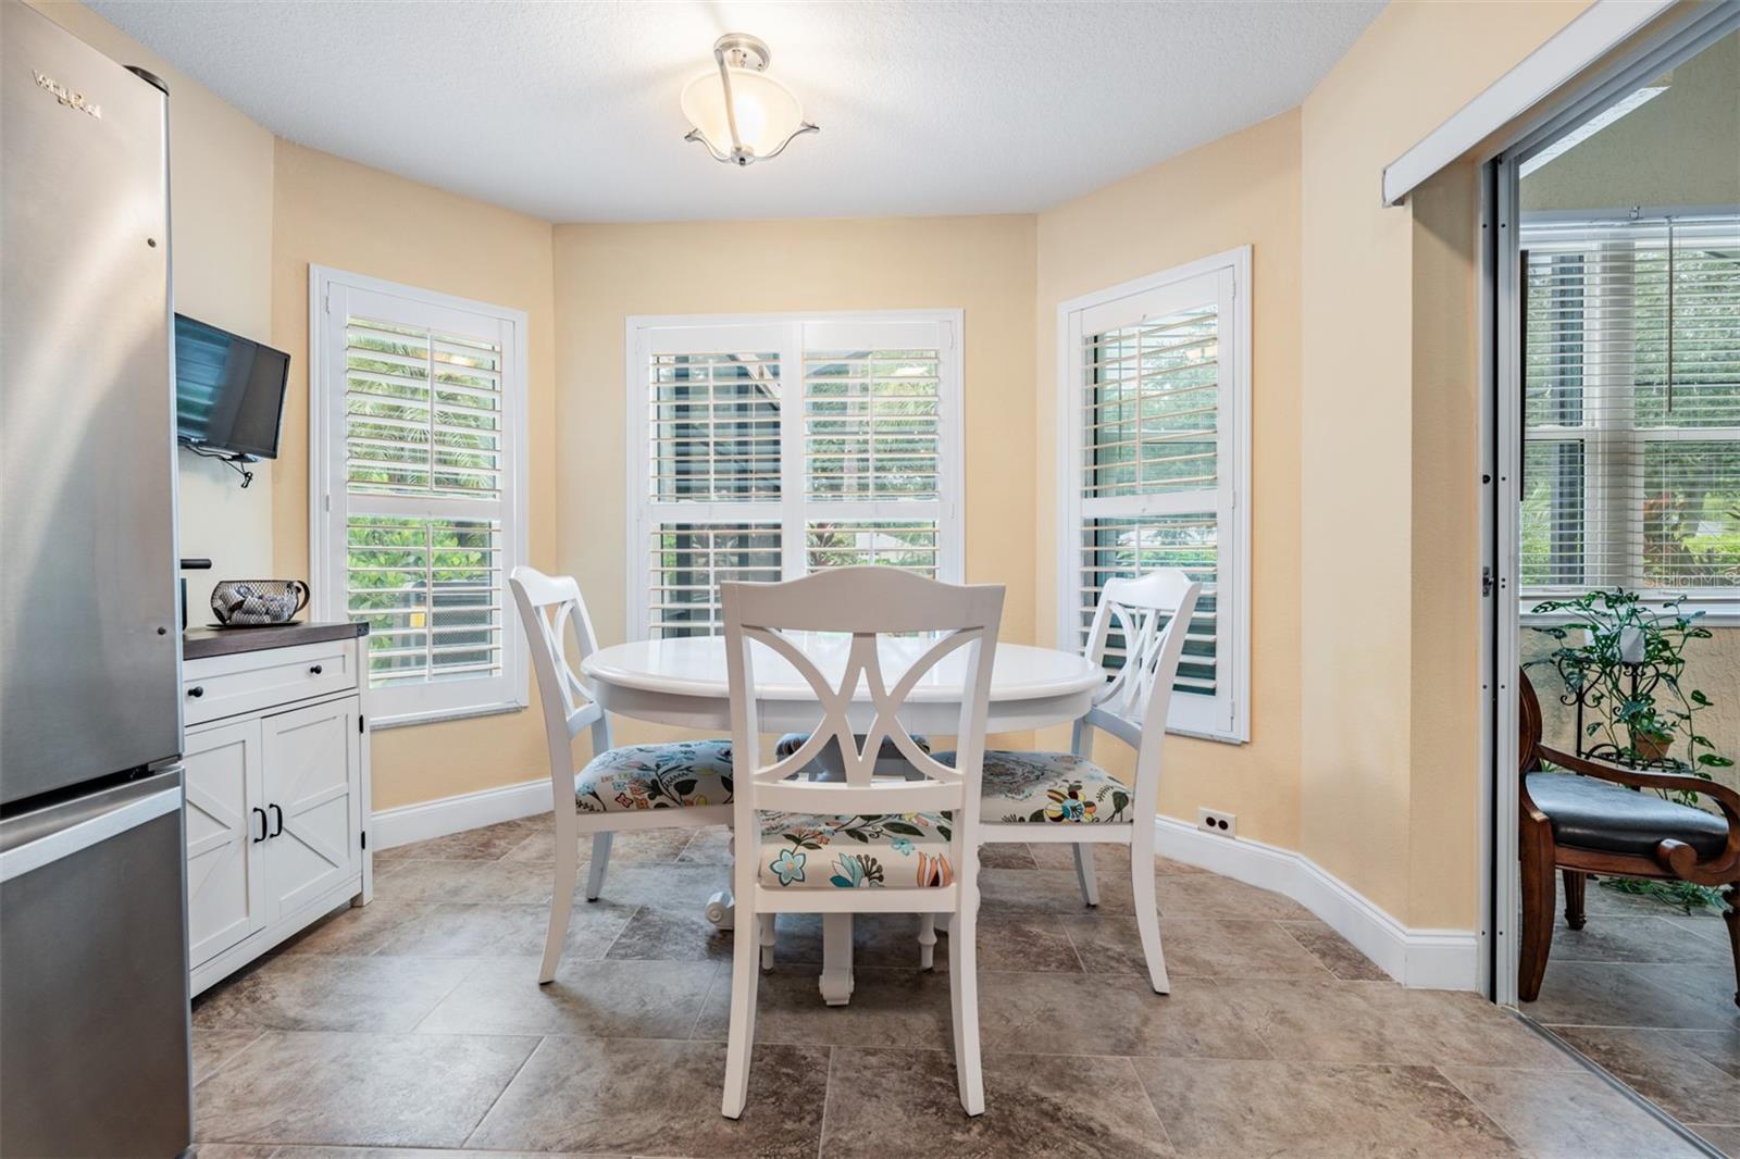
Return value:
[[(579, 663), (599, 647), (592, 616), (572, 576), (546, 576), (536, 567), (515, 567), (508, 576), (520, 625), (531, 644), (532, 672), (538, 673), (538, 700), (545, 715), (545, 741), (550, 747), (550, 780), (555, 799), (574, 795), (574, 738), (592, 726), (592, 750), (611, 747), (611, 726), (579, 675)], [(572, 639), (574, 661), (567, 644)]]

